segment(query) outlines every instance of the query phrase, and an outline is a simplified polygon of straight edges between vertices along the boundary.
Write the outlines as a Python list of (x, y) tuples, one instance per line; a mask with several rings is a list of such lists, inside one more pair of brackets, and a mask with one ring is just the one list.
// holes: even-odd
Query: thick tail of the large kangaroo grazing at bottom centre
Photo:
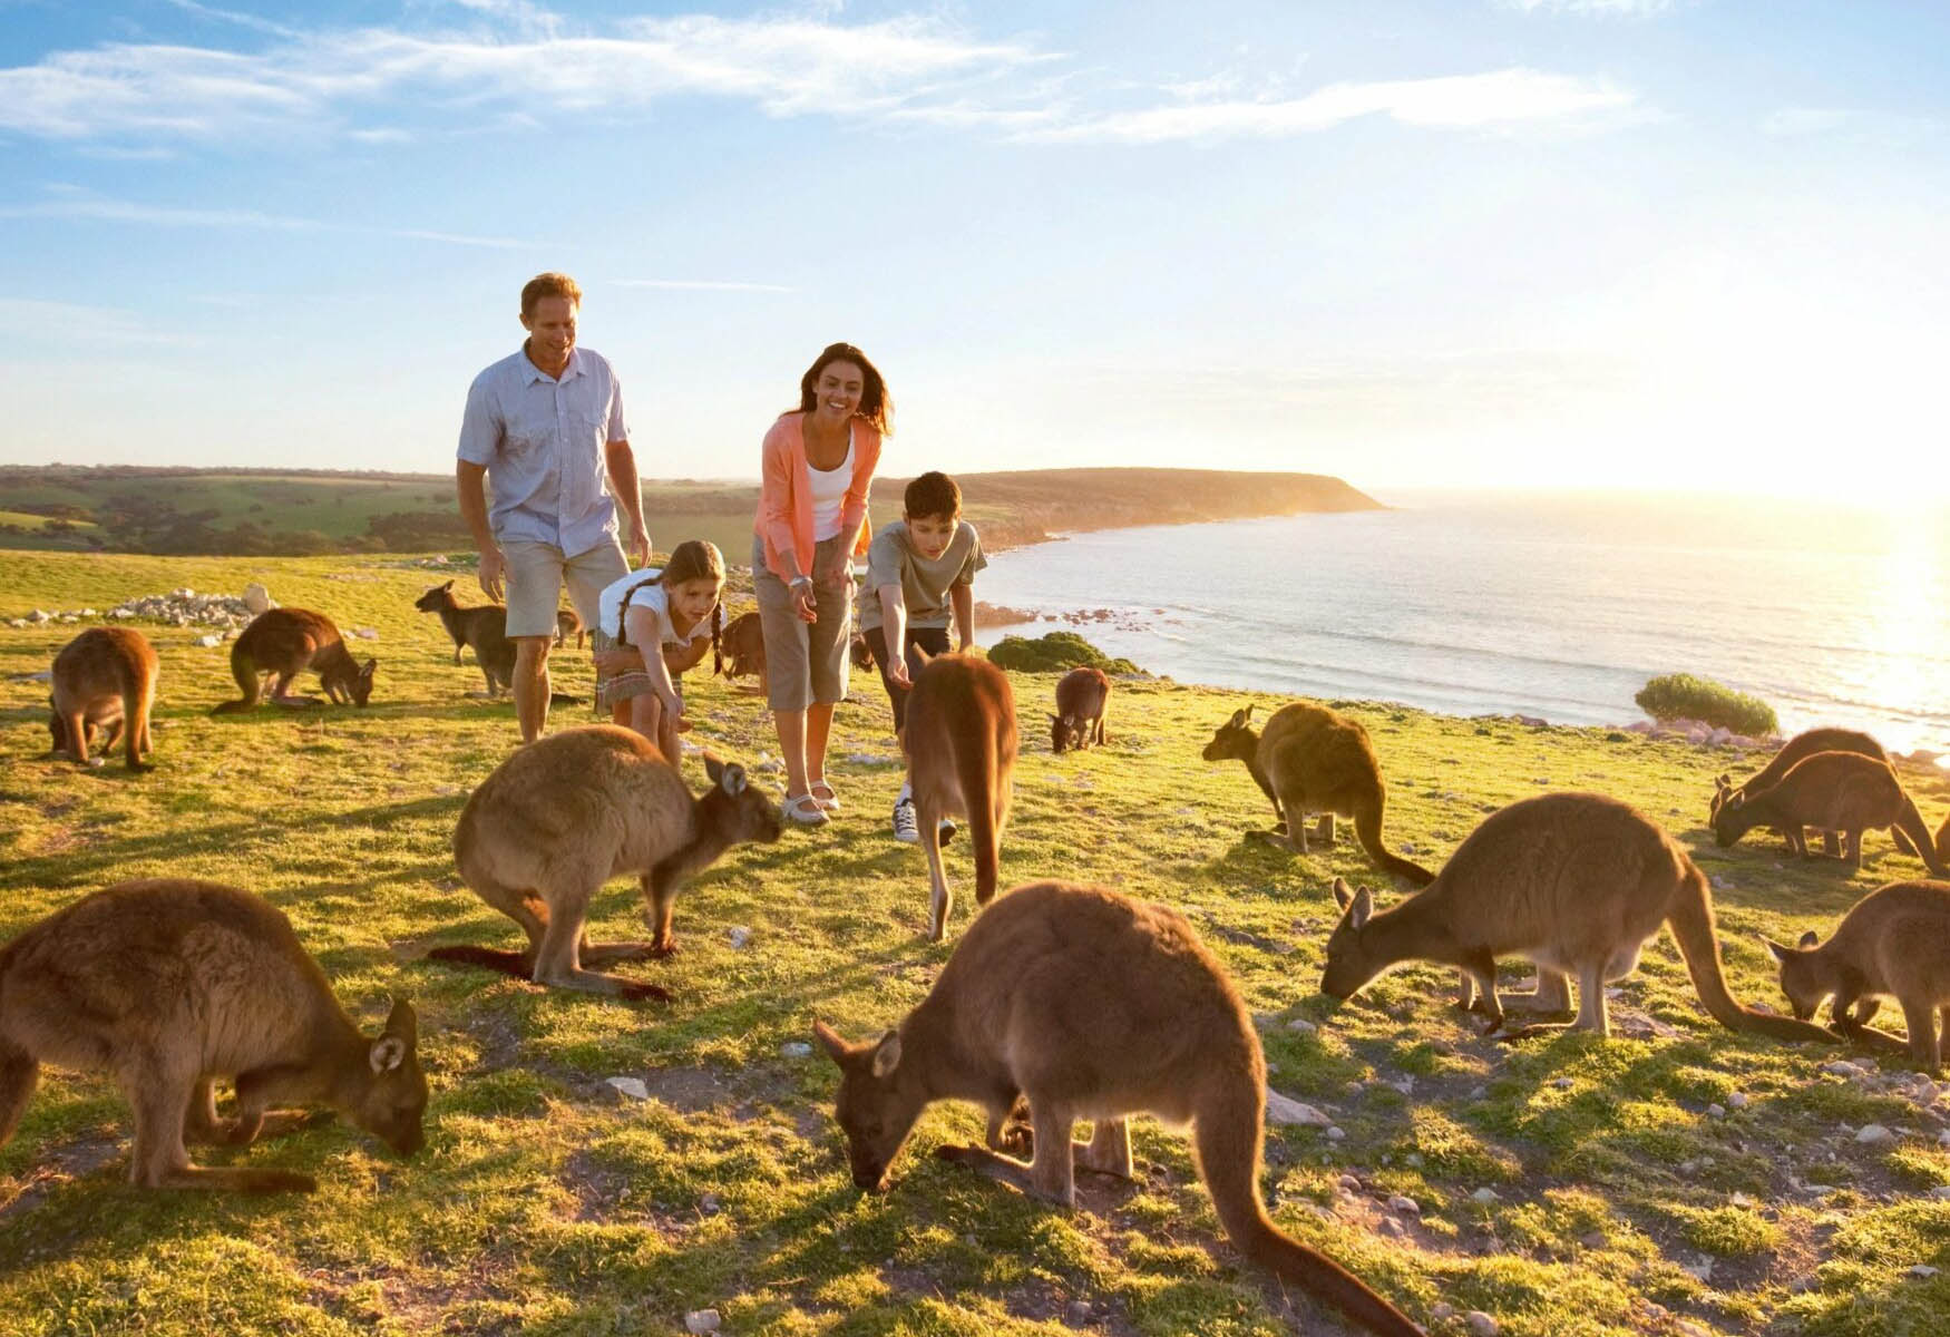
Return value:
[(1234, 1078), (1201, 1101), (1193, 1121), (1199, 1173), (1234, 1247), (1281, 1280), (1332, 1304), (1381, 1337), (1420, 1337), (1408, 1316), (1365, 1280), (1308, 1245), (1283, 1234), (1260, 1201), (1260, 1105), (1256, 1082)]

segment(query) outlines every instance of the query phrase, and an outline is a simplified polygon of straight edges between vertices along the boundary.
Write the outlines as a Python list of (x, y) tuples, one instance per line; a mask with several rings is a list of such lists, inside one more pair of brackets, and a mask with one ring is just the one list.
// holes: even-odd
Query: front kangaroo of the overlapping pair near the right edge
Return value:
[(1774, 785), (1730, 797), (1712, 821), (1712, 834), (1726, 848), (1755, 826), (1839, 830), (1843, 858), (1852, 871), (1862, 867), (1862, 832), (1890, 826), (1909, 836), (1909, 846), (1934, 877), (1950, 877), (1903, 782), (1888, 762), (1860, 752), (1815, 752), (1794, 762)]

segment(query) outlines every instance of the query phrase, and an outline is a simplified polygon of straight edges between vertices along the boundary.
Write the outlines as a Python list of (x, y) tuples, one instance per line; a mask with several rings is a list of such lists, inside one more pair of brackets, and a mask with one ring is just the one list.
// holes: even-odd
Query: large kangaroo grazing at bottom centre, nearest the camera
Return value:
[[(989, 1146), (1000, 1150), (1028, 1097), (1030, 1164), (981, 1146), (938, 1156), (1063, 1206), (1076, 1204), (1078, 1165), (1131, 1177), (1127, 1115), (1190, 1123), (1199, 1175), (1240, 1253), (1373, 1333), (1422, 1331), (1266, 1214), (1260, 1037), (1176, 910), (1100, 887), (1018, 887), (969, 926), (899, 1029), (860, 1045), (823, 1021), (813, 1033), (840, 1068), (837, 1117), (860, 1189), (887, 1187), (893, 1158), (938, 1099), (983, 1105)], [(1078, 1119), (1096, 1125), (1082, 1146), (1071, 1142)]]

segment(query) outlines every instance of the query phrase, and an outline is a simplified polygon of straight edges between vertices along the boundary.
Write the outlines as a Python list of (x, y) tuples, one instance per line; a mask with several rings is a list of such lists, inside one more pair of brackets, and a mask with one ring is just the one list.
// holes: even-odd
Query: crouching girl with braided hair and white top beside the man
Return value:
[(682, 762), (677, 735), (690, 731), (679, 678), (704, 659), (722, 667), (725, 559), (716, 544), (692, 538), (671, 552), (663, 571), (632, 571), (603, 591), (597, 667), (614, 676), (597, 684), (597, 707)]

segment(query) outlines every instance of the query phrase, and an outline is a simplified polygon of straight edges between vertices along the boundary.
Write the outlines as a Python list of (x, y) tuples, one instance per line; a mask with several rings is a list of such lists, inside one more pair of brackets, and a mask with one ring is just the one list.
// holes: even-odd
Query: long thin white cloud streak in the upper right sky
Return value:
[(1496, 70), (1425, 80), (1330, 84), (1283, 101), (1184, 101), (1119, 111), (1072, 125), (1028, 131), (1041, 140), (1275, 138), (1328, 131), (1357, 117), (1384, 115), (1424, 129), (1486, 129), (1517, 123), (1564, 123), (1632, 107), (1636, 96), (1603, 80)]

